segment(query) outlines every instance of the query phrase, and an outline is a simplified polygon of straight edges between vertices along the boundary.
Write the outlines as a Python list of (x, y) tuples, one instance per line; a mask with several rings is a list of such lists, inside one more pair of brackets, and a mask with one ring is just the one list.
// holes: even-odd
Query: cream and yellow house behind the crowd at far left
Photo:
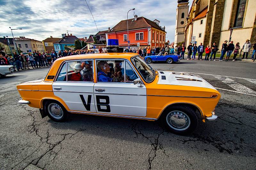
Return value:
[(40, 53), (45, 52), (42, 41), (26, 38), (24, 36), (20, 36), (18, 38), (14, 38), (15, 44), (17, 48), (19, 48), (23, 52), (32, 52), (39, 51)]

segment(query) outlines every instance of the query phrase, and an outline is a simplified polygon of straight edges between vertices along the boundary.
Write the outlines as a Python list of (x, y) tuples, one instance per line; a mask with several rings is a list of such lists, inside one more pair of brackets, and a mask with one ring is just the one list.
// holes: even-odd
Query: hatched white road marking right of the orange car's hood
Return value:
[(252, 89), (228, 78), (228, 77), (221, 77), (221, 76), (214, 76), (215, 78), (219, 79), (220, 81), (224, 82), (225, 84), (227, 84), (229, 87), (232, 87), (233, 89), (235, 89), (236, 91), (240, 91), (243, 93), (247, 93), (247, 94), (254, 94), (256, 95), (256, 92), (253, 91)]

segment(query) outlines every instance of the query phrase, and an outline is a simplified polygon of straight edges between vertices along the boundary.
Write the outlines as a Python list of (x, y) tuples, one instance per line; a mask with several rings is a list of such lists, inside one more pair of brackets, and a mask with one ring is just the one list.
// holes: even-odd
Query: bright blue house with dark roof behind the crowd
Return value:
[[(56, 52), (61, 51), (63, 52), (63, 50), (65, 50), (65, 46), (75, 46), (75, 41), (79, 40), (79, 38), (77, 38), (76, 36), (72, 35), (72, 34), (62, 34), (62, 38), (56, 42), (53, 43), (54, 46), (54, 50)], [(79, 40), (81, 43), (81, 40)]]

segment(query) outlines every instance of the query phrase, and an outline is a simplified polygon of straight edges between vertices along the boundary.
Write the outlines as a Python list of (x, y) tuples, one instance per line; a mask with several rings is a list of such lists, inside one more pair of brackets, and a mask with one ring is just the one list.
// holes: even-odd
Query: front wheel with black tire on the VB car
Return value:
[(167, 108), (161, 115), (161, 121), (165, 128), (179, 135), (193, 132), (198, 125), (196, 111), (184, 105)]

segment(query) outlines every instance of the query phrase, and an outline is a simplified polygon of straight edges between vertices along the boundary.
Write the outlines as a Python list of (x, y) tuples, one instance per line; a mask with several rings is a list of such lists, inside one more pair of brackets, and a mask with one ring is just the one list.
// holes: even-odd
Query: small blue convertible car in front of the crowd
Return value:
[(172, 64), (173, 62), (179, 62), (180, 59), (177, 55), (162, 55), (162, 52), (160, 52), (156, 56), (146, 56), (145, 61), (150, 64), (153, 61), (166, 61), (168, 64)]

